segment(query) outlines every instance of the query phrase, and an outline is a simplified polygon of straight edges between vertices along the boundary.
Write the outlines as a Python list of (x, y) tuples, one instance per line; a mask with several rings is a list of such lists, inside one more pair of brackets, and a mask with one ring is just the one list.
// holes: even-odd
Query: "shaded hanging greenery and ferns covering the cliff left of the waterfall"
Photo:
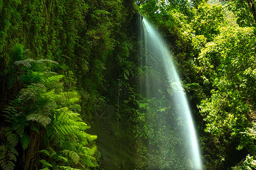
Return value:
[(132, 1), (0, 2), (2, 169), (101, 164), (85, 130), (129, 75), (132, 14)]

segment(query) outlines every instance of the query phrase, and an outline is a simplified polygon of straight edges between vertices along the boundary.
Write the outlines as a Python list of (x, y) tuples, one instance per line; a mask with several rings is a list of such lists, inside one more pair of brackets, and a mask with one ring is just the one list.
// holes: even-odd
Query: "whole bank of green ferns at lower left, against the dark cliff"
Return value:
[(16, 162), (24, 169), (95, 167), (96, 146), (92, 141), (97, 136), (85, 133), (90, 127), (77, 113), (79, 94), (71, 88), (65, 91), (64, 75), (50, 71), (56, 62), (26, 59), (21, 45), (14, 50), (9, 54), (11, 69), (6, 79), (15, 80), (7, 81), (7, 87), (14, 88), (19, 83), (23, 88), (17, 88), (18, 97), (4, 111), (1, 168), (14, 169)]

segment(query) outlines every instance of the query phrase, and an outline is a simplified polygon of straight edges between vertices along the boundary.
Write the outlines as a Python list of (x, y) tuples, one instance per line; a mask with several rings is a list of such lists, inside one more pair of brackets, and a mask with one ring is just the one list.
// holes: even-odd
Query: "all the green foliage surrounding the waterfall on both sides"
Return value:
[(170, 91), (139, 94), (136, 11), (175, 55), (204, 168), (255, 168), (254, 0), (11, 0), (0, 1), (1, 169), (185, 168), (166, 133)]

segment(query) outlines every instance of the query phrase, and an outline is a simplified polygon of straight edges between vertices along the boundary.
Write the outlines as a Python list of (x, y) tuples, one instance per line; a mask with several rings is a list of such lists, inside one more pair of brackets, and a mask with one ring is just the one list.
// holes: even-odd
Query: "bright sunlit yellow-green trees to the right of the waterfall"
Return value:
[(176, 54), (197, 120), (205, 169), (235, 165), (234, 169), (253, 169), (255, 34), (250, 5), (254, 2), (211, 1), (186, 8), (185, 1), (180, 2), (174, 7), (172, 1), (146, 1), (140, 10)]

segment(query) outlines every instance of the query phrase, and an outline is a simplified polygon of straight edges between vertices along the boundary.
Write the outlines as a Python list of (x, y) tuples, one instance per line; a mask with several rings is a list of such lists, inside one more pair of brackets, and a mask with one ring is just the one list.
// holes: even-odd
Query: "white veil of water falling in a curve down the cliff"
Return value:
[[(167, 108), (163, 105), (163, 109), (158, 111), (163, 116), (158, 116), (159, 120), (155, 120), (155, 122), (159, 122), (157, 128), (162, 131), (165, 130), (163, 134), (168, 135), (167, 142), (163, 144), (163, 140), (166, 138), (163, 137), (161, 144), (162, 155), (164, 153), (169, 154), (169, 156), (164, 157), (164, 161), (168, 161), (166, 164), (169, 167), (174, 167), (173, 169), (175, 167), (203, 169), (195, 125), (185, 91), (172, 61), (172, 53), (156, 28), (142, 16), (139, 17), (139, 20), (141, 23), (139, 24), (141, 68), (143, 71), (141, 94), (147, 100), (162, 100), (165, 97), (170, 101), (170, 107)], [(175, 144), (168, 145), (168, 142)], [(175, 148), (170, 146), (175, 146)], [(148, 146), (148, 150), (150, 147), (153, 146)], [(180, 161), (180, 159), (182, 160)]]

